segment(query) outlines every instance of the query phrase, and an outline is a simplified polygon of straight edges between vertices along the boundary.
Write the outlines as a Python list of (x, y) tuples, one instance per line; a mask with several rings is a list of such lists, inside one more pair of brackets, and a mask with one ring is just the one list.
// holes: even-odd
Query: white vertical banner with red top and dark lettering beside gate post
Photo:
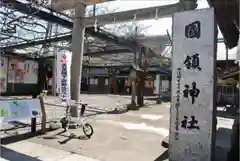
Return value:
[(57, 88), (61, 101), (66, 102), (71, 99), (70, 96), (70, 68), (72, 53), (67, 50), (60, 50), (57, 53)]

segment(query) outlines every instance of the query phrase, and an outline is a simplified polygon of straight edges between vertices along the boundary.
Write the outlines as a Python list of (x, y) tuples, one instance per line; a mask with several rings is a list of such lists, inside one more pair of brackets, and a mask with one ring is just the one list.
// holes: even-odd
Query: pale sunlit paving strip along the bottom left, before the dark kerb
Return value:
[(99, 161), (30, 141), (1, 146), (0, 161)]

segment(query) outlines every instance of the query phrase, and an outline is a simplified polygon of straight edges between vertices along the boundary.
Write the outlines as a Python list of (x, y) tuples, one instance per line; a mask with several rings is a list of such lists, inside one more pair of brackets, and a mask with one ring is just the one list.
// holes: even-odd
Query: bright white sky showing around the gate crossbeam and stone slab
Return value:
[[(160, 5), (167, 5), (177, 3), (178, 0), (117, 0), (108, 2), (108, 8), (117, 9), (117, 11), (125, 11), (131, 9), (139, 9), (139, 8), (146, 8), (146, 7), (153, 7), (153, 6), (160, 6)], [(208, 8), (208, 3), (206, 0), (198, 0), (198, 9)], [(133, 15), (134, 17), (134, 15)], [(154, 19), (154, 20), (146, 20), (141, 21), (139, 24), (143, 24), (146, 26), (151, 26), (146, 31), (147, 35), (166, 35), (167, 30), (171, 33), (172, 29), (172, 18), (161, 18), (161, 19)], [(218, 37), (222, 38), (222, 34), (219, 31)], [(228, 50), (229, 59), (236, 58), (236, 48)], [(226, 49), (224, 43), (218, 43), (218, 53), (217, 59), (226, 59)]]

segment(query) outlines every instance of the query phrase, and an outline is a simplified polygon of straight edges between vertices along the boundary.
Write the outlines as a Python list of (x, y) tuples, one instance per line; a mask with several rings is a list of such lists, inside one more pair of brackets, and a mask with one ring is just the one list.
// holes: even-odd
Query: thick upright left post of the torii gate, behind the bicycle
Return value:
[[(71, 99), (80, 102), (82, 63), (84, 52), (84, 16), (86, 5), (75, 5), (75, 19), (72, 34), (72, 63), (71, 63)], [(78, 105), (77, 105), (78, 106)], [(70, 111), (73, 117), (78, 117), (78, 107), (72, 107)]]

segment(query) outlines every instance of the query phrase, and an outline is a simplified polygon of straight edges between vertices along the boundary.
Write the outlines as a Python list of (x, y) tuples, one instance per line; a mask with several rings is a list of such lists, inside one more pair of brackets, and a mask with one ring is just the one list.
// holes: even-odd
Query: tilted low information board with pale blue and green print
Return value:
[(41, 116), (39, 99), (0, 101), (0, 124)]

